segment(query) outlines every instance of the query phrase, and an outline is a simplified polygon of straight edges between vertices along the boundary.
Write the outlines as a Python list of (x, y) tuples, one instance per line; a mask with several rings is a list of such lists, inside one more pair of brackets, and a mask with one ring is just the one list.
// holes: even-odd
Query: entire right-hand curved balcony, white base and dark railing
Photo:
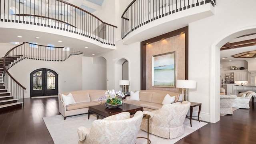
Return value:
[(133, 0), (122, 14), (124, 44), (141, 42), (214, 15), (216, 0)]

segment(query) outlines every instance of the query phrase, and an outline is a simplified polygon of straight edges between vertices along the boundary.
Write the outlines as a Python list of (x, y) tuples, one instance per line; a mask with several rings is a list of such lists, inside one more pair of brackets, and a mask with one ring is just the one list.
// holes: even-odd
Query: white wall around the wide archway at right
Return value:
[[(217, 86), (220, 84), (220, 67), (214, 64), (220, 61), (218, 51), (222, 45), (246, 33), (233, 34), (237, 29), (256, 25), (256, 20), (251, 18), (256, 12), (255, 4), (254, 0), (219, 0), (214, 16), (189, 24), (189, 79), (197, 81), (197, 90), (190, 92), (190, 98), (194, 102), (202, 103), (203, 120), (217, 122), (220, 119), (216, 115), (210, 120), (210, 106), (213, 104), (215, 107), (211, 106), (212, 109), (219, 108), (218, 102), (214, 104), (212, 101), (219, 97)], [(242, 9), (242, 12), (238, 12), (238, 9)], [(214, 44), (218, 44), (217, 48), (213, 46), (211, 50)], [(214, 71), (214, 68), (218, 71)]]

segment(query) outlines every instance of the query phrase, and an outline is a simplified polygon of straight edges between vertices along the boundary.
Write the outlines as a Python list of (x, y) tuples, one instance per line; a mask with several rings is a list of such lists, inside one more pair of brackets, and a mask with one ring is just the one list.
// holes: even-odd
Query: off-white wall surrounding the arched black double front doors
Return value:
[(58, 92), (82, 89), (82, 54), (70, 56), (64, 62), (24, 59), (9, 70), (10, 74), (26, 88), (24, 98), (30, 97), (30, 73), (39, 68), (48, 68), (58, 74)]

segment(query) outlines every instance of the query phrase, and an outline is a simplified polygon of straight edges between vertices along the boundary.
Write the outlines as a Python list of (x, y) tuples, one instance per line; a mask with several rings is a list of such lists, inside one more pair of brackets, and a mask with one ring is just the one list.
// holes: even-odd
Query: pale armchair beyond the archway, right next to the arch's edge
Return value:
[(234, 94), (220, 95), (220, 114), (233, 114), (233, 102), (237, 96)]

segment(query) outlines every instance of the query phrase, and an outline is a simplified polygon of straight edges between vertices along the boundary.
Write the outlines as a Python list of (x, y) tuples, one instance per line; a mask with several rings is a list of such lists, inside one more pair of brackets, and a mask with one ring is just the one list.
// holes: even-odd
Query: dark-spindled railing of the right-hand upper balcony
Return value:
[(122, 39), (154, 20), (216, 0), (133, 0), (122, 14)]

